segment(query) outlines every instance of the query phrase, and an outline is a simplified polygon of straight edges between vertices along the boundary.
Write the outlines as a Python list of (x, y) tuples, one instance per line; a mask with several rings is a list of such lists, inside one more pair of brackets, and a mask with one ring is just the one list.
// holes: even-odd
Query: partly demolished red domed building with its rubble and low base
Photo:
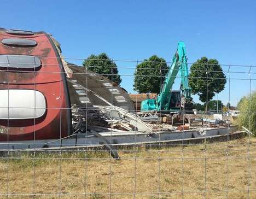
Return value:
[(48, 33), (1, 28), (0, 40), (3, 149), (184, 141), (236, 131), (228, 122), (210, 125), (186, 113), (136, 112), (138, 101), (134, 106), (125, 89), (66, 62)]

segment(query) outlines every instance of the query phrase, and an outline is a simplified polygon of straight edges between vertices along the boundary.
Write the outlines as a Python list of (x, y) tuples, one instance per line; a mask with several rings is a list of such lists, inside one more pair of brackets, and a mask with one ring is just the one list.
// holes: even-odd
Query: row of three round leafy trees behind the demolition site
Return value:
[[(99, 55), (90, 55), (84, 60), (83, 66), (90, 71), (102, 74), (118, 85), (121, 83), (116, 63), (104, 52)], [(167, 72), (168, 66), (165, 59), (153, 55), (137, 64), (134, 72), (133, 89), (138, 93), (159, 93)], [(212, 108), (212, 104), (215, 103), (211, 100), (217, 93), (224, 90), (225, 84), (225, 74), (216, 59), (201, 57), (191, 65), (189, 86), (192, 93), (198, 95), (202, 103), (208, 102), (209, 108)], [(200, 110), (205, 106), (204, 104), (199, 106), (197, 103), (195, 108), (199, 107), (196, 109)]]

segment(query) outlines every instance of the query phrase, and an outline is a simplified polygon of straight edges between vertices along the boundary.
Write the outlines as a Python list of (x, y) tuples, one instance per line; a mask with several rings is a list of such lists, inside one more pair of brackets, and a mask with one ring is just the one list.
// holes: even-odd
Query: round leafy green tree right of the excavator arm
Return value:
[(190, 68), (189, 85), (201, 102), (210, 101), (216, 93), (224, 90), (225, 84), (226, 76), (216, 59), (202, 57)]

